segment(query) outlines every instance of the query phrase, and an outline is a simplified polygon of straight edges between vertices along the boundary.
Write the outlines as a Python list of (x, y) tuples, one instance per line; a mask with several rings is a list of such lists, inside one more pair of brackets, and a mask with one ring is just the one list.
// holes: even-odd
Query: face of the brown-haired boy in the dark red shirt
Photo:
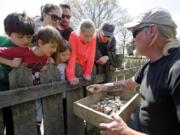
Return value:
[(57, 49), (57, 43), (42, 44), (42, 42), (38, 42), (38, 45), (42, 55), (46, 55), (48, 57), (55, 53)]

